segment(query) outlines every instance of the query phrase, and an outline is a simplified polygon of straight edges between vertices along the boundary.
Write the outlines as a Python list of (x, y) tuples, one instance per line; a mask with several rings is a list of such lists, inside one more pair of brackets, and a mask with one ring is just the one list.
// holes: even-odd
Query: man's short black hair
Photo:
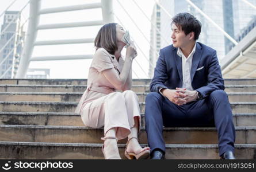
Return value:
[(196, 19), (192, 14), (179, 13), (173, 17), (171, 26), (175, 24), (179, 30), (183, 30), (186, 35), (190, 32), (194, 32), (194, 40), (198, 40), (201, 33), (201, 22)]

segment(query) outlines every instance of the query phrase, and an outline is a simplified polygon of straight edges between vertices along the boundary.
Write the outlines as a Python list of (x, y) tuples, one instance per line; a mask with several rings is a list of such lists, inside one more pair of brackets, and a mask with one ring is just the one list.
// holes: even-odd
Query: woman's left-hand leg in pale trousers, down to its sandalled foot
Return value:
[(117, 140), (130, 134), (124, 96), (120, 92), (110, 93), (97, 100), (87, 103), (82, 110), (82, 120), (87, 127), (101, 128), (104, 126), (105, 158), (120, 159)]

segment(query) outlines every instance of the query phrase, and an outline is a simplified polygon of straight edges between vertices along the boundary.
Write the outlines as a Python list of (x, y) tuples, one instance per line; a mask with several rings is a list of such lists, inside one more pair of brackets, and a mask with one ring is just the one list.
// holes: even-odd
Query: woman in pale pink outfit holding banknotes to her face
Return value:
[(125, 156), (129, 159), (146, 159), (150, 148), (140, 147), (137, 140), (141, 120), (138, 98), (136, 93), (129, 90), (132, 86), (132, 61), (137, 52), (131, 42), (125, 60), (121, 57), (121, 50), (126, 45), (122, 41), (124, 34), (124, 29), (114, 23), (102, 26), (98, 32), (87, 89), (75, 112), (81, 115), (87, 127), (104, 126), (102, 153), (105, 159), (121, 159), (117, 141), (127, 136)]

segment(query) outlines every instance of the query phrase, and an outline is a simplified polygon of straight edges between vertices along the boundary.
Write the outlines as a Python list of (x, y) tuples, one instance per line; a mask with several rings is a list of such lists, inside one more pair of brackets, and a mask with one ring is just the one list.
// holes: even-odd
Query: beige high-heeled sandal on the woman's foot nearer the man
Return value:
[(135, 154), (135, 153), (128, 153), (127, 152), (127, 146), (128, 146), (128, 143), (131, 139), (137, 139), (136, 137), (132, 137), (128, 140), (128, 142), (126, 143), (126, 147), (125, 147), (125, 150), (124, 150), (124, 155), (125, 157), (127, 157), (128, 159), (148, 159), (148, 157), (150, 157), (150, 147), (144, 147), (142, 148), (142, 150), (140, 151), (140, 153), (138, 154)]

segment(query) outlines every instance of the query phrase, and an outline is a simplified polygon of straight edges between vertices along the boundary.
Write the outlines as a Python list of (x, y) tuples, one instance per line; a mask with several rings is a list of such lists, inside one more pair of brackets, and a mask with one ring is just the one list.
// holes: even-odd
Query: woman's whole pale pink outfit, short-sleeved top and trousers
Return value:
[[(136, 116), (139, 118), (139, 126), (141, 121), (136, 93), (130, 90), (123, 93), (117, 92), (102, 74), (102, 71), (106, 69), (115, 68), (119, 75), (123, 65), (123, 57), (117, 61), (104, 48), (98, 49), (89, 69), (87, 89), (75, 110), (75, 113), (81, 115), (86, 127), (101, 128), (104, 126), (104, 135), (109, 129), (117, 127), (116, 137), (118, 139), (124, 139), (131, 133), (130, 129), (134, 126)], [(132, 82), (131, 78), (127, 82)]]

